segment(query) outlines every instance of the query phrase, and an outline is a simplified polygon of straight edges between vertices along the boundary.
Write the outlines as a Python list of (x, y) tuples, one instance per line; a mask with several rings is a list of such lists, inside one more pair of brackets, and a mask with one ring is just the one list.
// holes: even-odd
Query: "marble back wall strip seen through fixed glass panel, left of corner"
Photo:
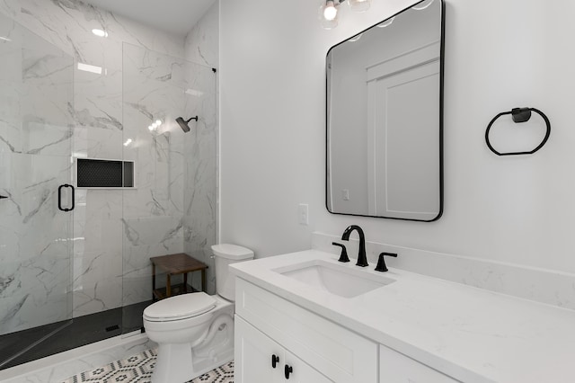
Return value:
[[(124, 159), (137, 189), (124, 191), (124, 305), (151, 298), (149, 258), (183, 251), (184, 132), (175, 122), (186, 103), (182, 58), (124, 45)], [(164, 123), (155, 131), (147, 127)]]

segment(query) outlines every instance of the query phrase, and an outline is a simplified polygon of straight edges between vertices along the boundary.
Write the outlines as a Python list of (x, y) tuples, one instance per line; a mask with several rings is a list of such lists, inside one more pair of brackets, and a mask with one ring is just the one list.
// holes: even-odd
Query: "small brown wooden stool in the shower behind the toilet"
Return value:
[[(155, 256), (150, 258), (152, 261), (152, 299), (164, 299), (173, 295), (193, 292), (194, 289), (188, 286), (188, 272), (201, 271), (201, 290), (206, 291), (206, 269), (208, 265), (199, 262), (197, 259), (190, 257), (188, 254), (170, 254)], [(165, 288), (155, 288), (155, 267), (166, 273)], [(172, 286), (172, 276), (183, 274), (183, 283)]]

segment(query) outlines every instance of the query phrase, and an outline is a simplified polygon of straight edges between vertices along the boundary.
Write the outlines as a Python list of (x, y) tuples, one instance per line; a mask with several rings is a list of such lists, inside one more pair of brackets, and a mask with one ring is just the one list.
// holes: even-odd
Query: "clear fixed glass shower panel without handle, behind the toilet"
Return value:
[[(123, 44), (123, 160), (133, 161), (135, 187), (123, 194), (123, 331), (142, 325), (152, 303), (150, 258), (189, 254), (208, 264), (216, 242), (216, 71), (128, 43)], [(181, 129), (178, 118), (188, 120)], [(165, 287), (158, 270), (155, 287)], [(173, 285), (181, 283), (178, 276)], [(201, 289), (199, 273), (189, 284)]]

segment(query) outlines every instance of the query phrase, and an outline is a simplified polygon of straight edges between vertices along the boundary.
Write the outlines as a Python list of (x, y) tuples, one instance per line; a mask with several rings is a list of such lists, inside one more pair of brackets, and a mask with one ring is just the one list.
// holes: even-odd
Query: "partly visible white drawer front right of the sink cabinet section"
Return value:
[(379, 383), (457, 383), (419, 361), (379, 345)]

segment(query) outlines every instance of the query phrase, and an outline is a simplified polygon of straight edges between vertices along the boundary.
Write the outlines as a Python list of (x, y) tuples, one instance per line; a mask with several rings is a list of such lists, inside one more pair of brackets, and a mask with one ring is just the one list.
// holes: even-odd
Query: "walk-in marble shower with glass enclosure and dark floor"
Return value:
[[(139, 331), (150, 257), (212, 265), (217, 121), (210, 67), (124, 42), (118, 69), (93, 73), (3, 15), (0, 36), (2, 370)], [(202, 116), (195, 134), (181, 115)], [(89, 160), (119, 164), (119, 184), (93, 166), (106, 179), (78, 187)]]

